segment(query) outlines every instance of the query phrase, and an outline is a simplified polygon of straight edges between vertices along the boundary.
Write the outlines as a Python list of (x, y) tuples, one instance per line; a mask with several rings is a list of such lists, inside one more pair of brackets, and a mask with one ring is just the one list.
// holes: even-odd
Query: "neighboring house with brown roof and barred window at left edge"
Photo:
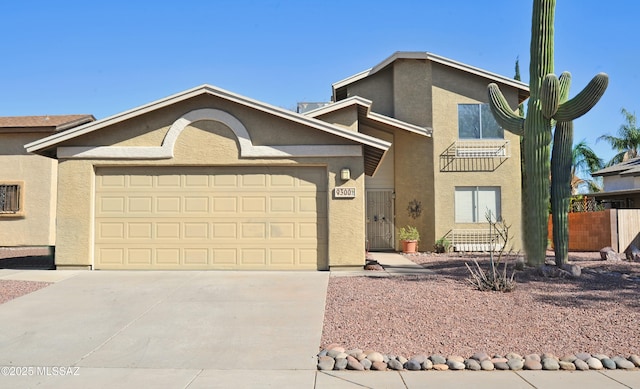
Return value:
[(95, 120), (91, 115), (0, 117), (0, 247), (55, 245), (57, 161), (24, 144)]

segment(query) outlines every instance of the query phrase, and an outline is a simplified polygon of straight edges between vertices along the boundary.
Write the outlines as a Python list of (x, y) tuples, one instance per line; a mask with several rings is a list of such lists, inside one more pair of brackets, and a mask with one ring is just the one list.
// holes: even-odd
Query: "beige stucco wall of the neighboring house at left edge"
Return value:
[(0, 247), (55, 244), (57, 161), (24, 149), (45, 135), (0, 134), (0, 182), (24, 182), (24, 215), (0, 216)]

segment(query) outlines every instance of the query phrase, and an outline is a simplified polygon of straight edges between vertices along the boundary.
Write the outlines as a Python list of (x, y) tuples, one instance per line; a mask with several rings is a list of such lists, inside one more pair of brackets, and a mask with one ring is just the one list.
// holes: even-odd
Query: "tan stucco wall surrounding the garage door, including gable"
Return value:
[[(154, 114), (106, 128), (91, 136), (83, 136), (75, 145), (158, 146), (164, 133), (180, 115), (198, 108), (218, 108), (236, 116), (247, 128), (254, 144), (344, 144), (348, 141), (319, 133), (303, 125), (275, 118), (269, 114), (217, 99), (192, 99)], [(171, 115), (173, 116), (171, 116)], [(129, 127), (131, 125), (131, 128)], [(145, 126), (144, 131), (136, 128)], [(149, 127), (153, 125), (152, 127)], [(145, 133), (146, 131), (146, 133)], [(134, 134), (127, 140), (119, 132)], [(65, 145), (66, 146), (66, 145)], [(187, 126), (175, 145), (175, 157), (170, 160), (64, 160), (59, 164), (58, 240), (56, 265), (59, 268), (89, 267), (93, 258), (94, 183), (98, 166), (202, 166), (202, 165), (288, 165), (325, 166), (329, 190), (328, 200), (328, 266), (348, 267), (364, 264), (364, 164), (362, 157), (239, 159), (237, 141), (226, 126), (201, 121)], [(352, 179), (339, 179), (342, 168), (351, 170)], [(355, 199), (333, 199), (336, 186), (355, 187)], [(327, 263), (320, 263), (325, 269)]]

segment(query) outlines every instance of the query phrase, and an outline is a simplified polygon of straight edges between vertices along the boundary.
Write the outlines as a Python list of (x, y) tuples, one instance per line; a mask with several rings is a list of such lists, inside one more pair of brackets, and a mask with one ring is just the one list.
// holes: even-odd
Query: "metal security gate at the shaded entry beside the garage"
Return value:
[(367, 190), (367, 248), (395, 248), (393, 190)]

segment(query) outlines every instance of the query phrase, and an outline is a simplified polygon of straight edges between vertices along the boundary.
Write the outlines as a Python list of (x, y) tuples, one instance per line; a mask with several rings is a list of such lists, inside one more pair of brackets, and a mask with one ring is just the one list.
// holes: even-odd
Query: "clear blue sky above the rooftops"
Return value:
[[(575, 95), (598, 72), (600, 103), (575, 122), (604, 159), (622, 107), (640, 114), (640, 3), (558, 0), (555, 71)], [(428, 51), (528, 82), (531, 1), (4, 1), (0, 116), (101, 119), (201, 84), (283, 108), (395, 51)]]

